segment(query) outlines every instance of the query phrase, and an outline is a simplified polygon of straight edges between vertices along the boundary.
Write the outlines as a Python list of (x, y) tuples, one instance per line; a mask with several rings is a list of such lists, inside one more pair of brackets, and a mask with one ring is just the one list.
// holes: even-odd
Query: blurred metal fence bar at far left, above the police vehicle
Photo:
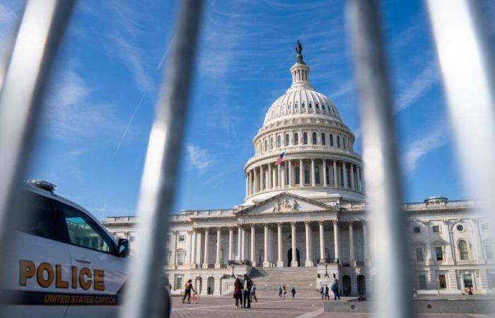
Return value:
[[(0, 255), (23, 213), (13, 211), (28, 162), (47, 75), (71, 16), (74, 0), (31, 0), (6, 52), (0, 80)], [(1, 75), (1, 74), (0, 74)], [(0, 264), (3, 266), (4, 264)], [(3, 271), (1, 271), (3, 272)]]

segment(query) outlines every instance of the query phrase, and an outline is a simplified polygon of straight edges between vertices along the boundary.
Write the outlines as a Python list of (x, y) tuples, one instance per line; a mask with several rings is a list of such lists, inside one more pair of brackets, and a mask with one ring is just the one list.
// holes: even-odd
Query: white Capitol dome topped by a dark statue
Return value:
[(281, 192), (326, 204), (363, 201), (363, 164), (354, 153), (354, 134), (337, 107), (311, 86), (299, 42), (296, 52), (292, 84), (269, 107), (253, 139), (255, 155), (244, 167), (244, 205)]

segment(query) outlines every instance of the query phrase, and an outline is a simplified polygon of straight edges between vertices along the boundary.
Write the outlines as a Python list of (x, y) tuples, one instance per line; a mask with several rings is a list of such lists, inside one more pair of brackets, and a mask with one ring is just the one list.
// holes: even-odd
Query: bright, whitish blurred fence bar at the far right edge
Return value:
[[(465, 189), (495, 225), (495, 52), (480, 32), (486, 26), (479, 18), (480, 2), (426, 4)], [(491, 235), (495, 239), (493, 226)]]

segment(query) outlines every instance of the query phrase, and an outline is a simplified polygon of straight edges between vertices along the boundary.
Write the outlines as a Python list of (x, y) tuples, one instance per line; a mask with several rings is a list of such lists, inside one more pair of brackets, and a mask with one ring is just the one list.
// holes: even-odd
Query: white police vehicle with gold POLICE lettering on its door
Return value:
[(129, 242), (116, 242), (54, 190), (37, 180), (23, 186), (18, 201), (29, 218), (13, 231), (5, 317), (115, 317), (129, 276)]

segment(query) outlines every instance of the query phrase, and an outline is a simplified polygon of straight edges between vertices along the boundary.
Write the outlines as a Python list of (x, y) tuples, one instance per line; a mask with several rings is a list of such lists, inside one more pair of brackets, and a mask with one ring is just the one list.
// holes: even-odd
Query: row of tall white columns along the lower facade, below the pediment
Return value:
[[(334, 248), (334, 259), (327, 259), (325, 256), (325, 223), (331, 222), (333, 225), (333, 248)], [(296, 224), (304, 223), (305, 225), (305, 260), (301, 260), (301, 263), (298, 264), (297, 260), (297, 246), (296, 246)], [(314, 266), (313, 264), (313, 254), (311, 251), (310, 241), (311, 235), (311, 223), (315, 223), (315, 221), (304, 221), (304, 222), (290, 222), (291, 225), (291, 252), (292, 252), (292, 261), (289, 266)], [(354, 223), (357, 222), (347, 222), (347, 226), (349, 227), (349, 265), (356, 266), (356, 254), (354, 252)], [(364, 252), (364, 260), (365, 262), (368, 260), (368, 251), (367, 251), (367, 231), (366, 231), (366, 221), (359, 221), (363, 228), (363, 252)], [(329, 263), (340, 263), (340, 242), (339, 242), (339, 223), (338, 220), (330, 220), (330, 221), (318, 221), (318, 229), (319, 229), (319, 239), (320, 239), (320, 251), (319, 251), (319, 261), (320, 263), (329, 262)], [(282, 240), (282, 225), (283, 223), (252, 223), (252, 224), (243, 224), (238, 225), (236, 227), (227, 227), (228, 229), (228, 260), (239, 261), (244, 264), (251, 264), (252, 266), (263, 266), (263, 267), (283, 267), (284, 259), (283, 259), (283, 240)], [(263, 264), (257, 264), (256, 261), (256, 228), (262, 226), (263, 235), (264, 235), (264, 257)], [(276, 260), (270, 259), (269, 250), (274, 245), (274, 242), (270, 242), (270, 231), (276, 228)], [(215, 253), (215, 268), (221, 268), (221, 235), (222, 230), (226, 229), (225, 227), (216, 227), (216, 253)], [(238, 240), (237, 240), (237, 249), (234, 250), (233, 246), (233, 237), (234, 230), (237, 230)], [(211, 228), (194, 228), (190, 234), (190, 253), (189, 259), (187, 261), (190, 262), (190, 265), (193, 267), (200, 266), (203, 269), (208, 269), (210, 266), (210, 254), (212, 254), (212, 250), (209, 248), (209, 236), (211, 232)], [(250, 232), (250, 237), (248, 239), (248, 231)], [(204, 235), (204, 239), (202, 236)], [(246, 245), (248, 244), (248, 240), (250, 240), (250, 254), (248, 255), (248, 251)], [(201, 259), (202, 257), (202, 259)]]

